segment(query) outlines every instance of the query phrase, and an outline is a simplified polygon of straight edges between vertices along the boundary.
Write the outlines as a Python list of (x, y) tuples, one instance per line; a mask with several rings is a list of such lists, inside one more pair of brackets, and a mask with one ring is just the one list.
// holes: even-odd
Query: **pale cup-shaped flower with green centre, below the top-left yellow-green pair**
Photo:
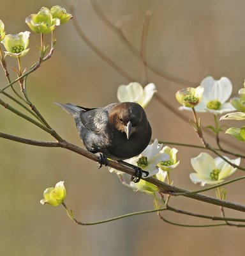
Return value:
[(29, 51), (29, 49), (27, 49), (29, 45), (29, 35), (29, 31), (6, 35), (1, 41), (7, 50), (5, 54), (15, 58), (25, 56)]

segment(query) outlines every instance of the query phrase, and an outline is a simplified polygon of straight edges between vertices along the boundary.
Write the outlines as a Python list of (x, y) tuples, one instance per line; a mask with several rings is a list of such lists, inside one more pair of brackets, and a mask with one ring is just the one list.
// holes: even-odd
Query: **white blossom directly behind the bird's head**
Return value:
[(134, 82), (128, 85), (120, 85), (117, 89), (117, 99), (119, 102), (137, 102), (145, 108), (151, 101), (154, 93), (156, 92), (155, 84), (147, 84), (142, 87), (141, 84)]

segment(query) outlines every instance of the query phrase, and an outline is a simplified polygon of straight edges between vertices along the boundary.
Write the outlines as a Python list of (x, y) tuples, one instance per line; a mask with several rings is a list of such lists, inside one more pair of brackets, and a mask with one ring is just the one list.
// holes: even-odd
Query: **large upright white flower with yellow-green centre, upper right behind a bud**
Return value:
[[(204, 88), (204, 93), (202, 100), (195, 107), (196, 112), (222, 114), (235, 110), (230, 102), (226, 102), (232, 94), (232, 83), (227, 77), (215, 80), (208, 76), (202, 80), (200, 86)], [(186, 107), (181, 107), (180, 109), (191, 110), (191, 108)]]

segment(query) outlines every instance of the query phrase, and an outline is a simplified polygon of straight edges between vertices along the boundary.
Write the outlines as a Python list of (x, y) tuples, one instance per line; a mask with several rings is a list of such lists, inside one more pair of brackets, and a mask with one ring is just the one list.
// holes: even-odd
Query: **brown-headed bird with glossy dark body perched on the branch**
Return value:
[(137, 103), (123, 102), (105, 108), (82, 108), (55, 103), (75, 118), (84, 146), (114, 160), (138, 156), (151, 140), (151, 125)]

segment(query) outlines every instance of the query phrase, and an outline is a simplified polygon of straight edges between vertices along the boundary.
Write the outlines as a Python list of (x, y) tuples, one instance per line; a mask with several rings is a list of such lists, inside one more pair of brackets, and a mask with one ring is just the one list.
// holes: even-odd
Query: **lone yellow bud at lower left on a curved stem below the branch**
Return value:
[(64, 188), (64, 181), (56, 184), (55, 188), (47, 188), (43, 192), (44, 199), (40, 201), (41, 204), (50, 204), (52, 206), (60, 205), (66, 198), (66, 188)]

